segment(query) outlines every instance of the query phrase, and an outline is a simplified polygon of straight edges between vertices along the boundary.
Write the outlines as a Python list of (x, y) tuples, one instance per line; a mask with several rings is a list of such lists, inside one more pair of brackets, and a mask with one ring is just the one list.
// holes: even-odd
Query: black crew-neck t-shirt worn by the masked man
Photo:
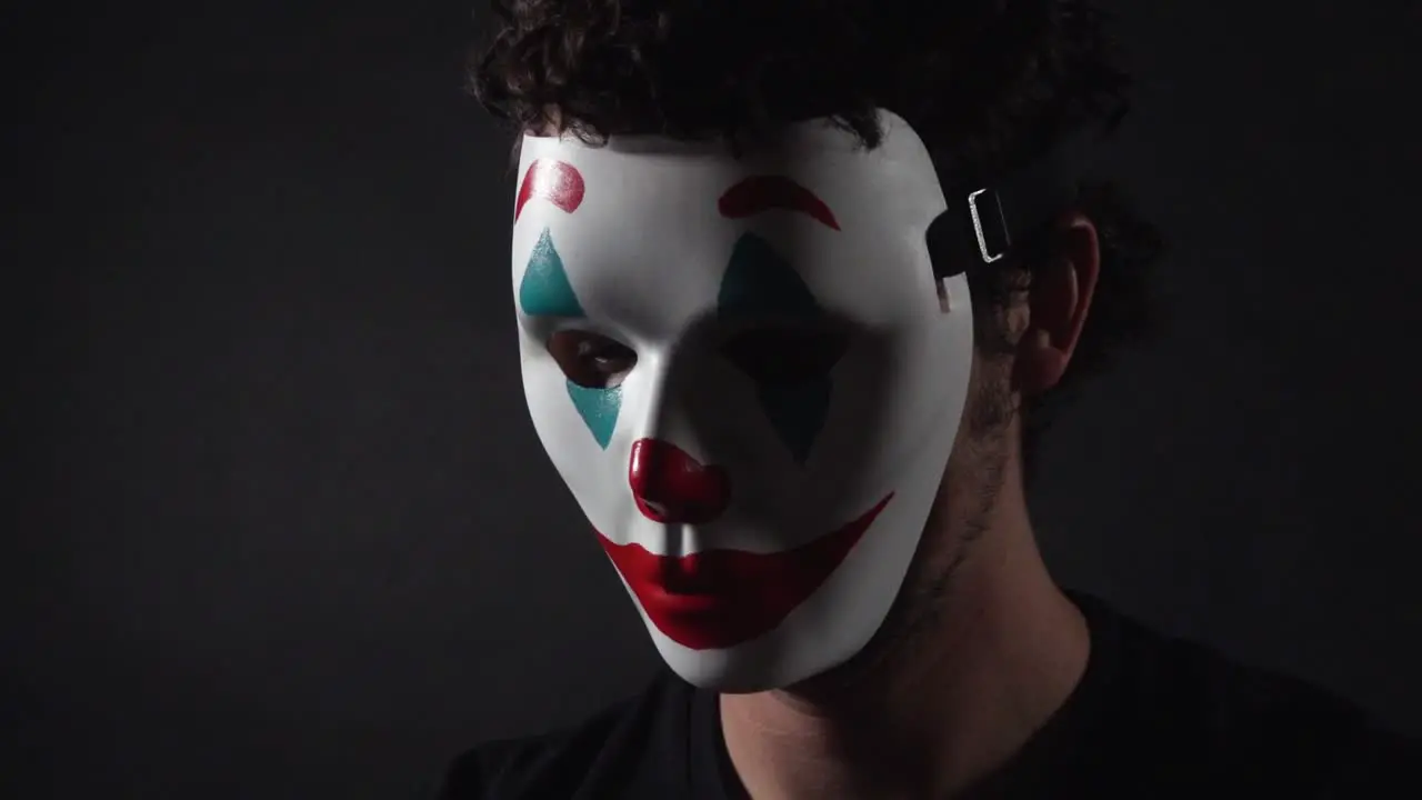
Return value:
[[(1422, 799), (1422, 747), (1351, 705), (1072, 595), (1091, 660), (1066, 703), (963, 800)], [(441, 800), (739, 800), (714, 692), (671, 673), (572, 729), (458, 757)]]

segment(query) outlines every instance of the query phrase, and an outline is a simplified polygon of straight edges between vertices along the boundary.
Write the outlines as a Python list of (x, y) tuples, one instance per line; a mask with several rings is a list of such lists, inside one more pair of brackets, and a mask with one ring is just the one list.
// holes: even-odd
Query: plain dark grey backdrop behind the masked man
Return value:
[[(1049, 561), (1419, 732), (1418, 6), (1118, 6), (1176, 322), (1048, 438)], [(631, 690), (518, 383), (471, 4), (36, 9), (0, 793), (412, 797)]]

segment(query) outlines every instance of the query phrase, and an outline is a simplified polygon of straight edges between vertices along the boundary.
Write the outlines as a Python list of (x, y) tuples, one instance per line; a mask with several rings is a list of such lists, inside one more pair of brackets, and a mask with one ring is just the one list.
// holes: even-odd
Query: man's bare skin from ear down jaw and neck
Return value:
[(1101, 266), (1092, 222), (1062, 218), (1052, 253), (998, 310), (1012, 352), (974, 357), (967, 419), (879, 633), (801, 685), (721, 696), (754, 800), (951, 797), (1005, 764), (1081, 680), (1086, 622), (1037, 548), (1018, 410), (1071, 363)]

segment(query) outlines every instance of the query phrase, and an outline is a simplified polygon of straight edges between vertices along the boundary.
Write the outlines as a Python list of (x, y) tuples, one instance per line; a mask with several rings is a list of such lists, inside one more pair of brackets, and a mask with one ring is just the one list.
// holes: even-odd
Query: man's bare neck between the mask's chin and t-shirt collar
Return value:
[(1021, 483), (1001, 487), (971, 545), (933, 552), (927, 542), (964, 541), (968, 522), (930, 520), (919, 562), (957, 567), (947, 592), (907, 604), (919, 606), (906, 609), (910, 632), (805, 685), (721, 696), (727, 750), (754, 800), (950, 797), (1066, 700), (1089, 635), (1042, 564)]

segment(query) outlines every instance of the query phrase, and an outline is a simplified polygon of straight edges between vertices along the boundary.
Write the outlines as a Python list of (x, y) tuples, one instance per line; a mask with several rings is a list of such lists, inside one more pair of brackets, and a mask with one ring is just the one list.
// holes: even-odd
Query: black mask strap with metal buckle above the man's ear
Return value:
[(1105, 125), (1075, 131), (1000, 181), (950, 188), (947, 211), (929, 225), (926, 235), (933, 276), (941, 280), (997, 263), (1071, 208), (1078, 181), (1101, 141), (1115, 131), (1126, 111), (1121, 105)]

